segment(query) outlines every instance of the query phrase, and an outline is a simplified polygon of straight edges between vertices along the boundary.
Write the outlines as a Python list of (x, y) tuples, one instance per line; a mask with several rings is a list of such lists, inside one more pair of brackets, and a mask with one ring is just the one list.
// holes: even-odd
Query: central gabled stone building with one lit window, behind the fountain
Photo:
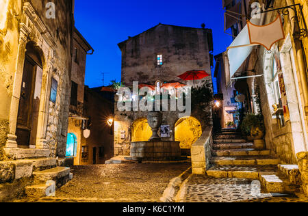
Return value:
[[(160, 24), (129, 37), (118, 44), (122, 51), (122, 82), (131, 86), (133, 81), (147, 83), (160, 89), (163, 83), (181, 82), (179, 75), (189, 70), (205, 70), (209, 77), (194, 81), (211, 84), (213, 41), (211, 29), (179, 27)], [(136, 98), (133, 98), (135, 100)], [(129, 155), (131, 141), (148, 141), (151, 128), (146, 120), (147, 111), (119, 111), (117, 97), (114, 117), (114, 154)], [(179, 111), (163, 111), (162, 125), (168, 128), (164, 141), (180, 141), (183, 154), (190, 154), (192, 144), (201, 136), (211, 121), (203, 122), (198, 114), (179, 118)]]

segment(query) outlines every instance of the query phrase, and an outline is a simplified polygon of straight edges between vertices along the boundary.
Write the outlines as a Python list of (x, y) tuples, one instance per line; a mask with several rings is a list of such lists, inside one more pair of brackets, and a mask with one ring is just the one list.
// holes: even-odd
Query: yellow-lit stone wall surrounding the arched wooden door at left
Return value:
[[(16, 158), (14, 151), (18, 154), (15, 135), (18, 98), (21, 94), (25, 47), (31, 42), (40, 54), (43, 70), (36, 148), (42, 151), (50, 148), (51, 157), (62, 157), (68, 120), (66, 92), (70, 92), (73, 1), (57, 1), (54, 19), (46, 16), (46, 4), (50, 1), (5, 1), (8, 1), (8, 8), (0, 9), (7, 15), (5, 25), (1, 25), (0, 29), (0, 119), (10, 121), (8, 148), (5, 151), (12, 158)], [(58, 82), (55, 104), (49, 102), (51, 77)]]

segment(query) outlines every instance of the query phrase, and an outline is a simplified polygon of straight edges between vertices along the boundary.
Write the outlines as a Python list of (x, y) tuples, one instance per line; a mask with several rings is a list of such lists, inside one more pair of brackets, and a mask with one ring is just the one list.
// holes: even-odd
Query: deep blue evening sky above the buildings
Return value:
[(121, 52), (117, 44), (158, 23), (213, 29), (214, 55), (226, 50), (231, 36), (223, 31), (221, 0), (75, 0), (75, 25), (94, 48), (88, 55), (86, 85), (120, 81)]

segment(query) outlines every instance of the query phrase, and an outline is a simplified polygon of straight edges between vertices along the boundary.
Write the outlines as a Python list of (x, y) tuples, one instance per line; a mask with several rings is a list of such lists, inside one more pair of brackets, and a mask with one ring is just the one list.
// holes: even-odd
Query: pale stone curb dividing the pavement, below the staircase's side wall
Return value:
[(166, 187), (163, 195), (159, 198), (161, 202), (175, 202), (175, 196), (177, 195), (178, 189), (181, 189), (183, 180), (188, 178), (192, 173), (192, 167), (189, 167), (181, 175), (176, 178), (172, 178), (168, 187)]

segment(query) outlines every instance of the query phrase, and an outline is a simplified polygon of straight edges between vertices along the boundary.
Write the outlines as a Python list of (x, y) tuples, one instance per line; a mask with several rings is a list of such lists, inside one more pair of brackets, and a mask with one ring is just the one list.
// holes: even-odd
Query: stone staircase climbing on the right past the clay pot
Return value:
[(235, 130), (222, 130), (214, 135), (211, 168), (207, 176), (214, 178), (247, 178), (259, 180), (265, 193), (300, 191), (297, 165), (280, 165), (270, 150), (257, 150)]

